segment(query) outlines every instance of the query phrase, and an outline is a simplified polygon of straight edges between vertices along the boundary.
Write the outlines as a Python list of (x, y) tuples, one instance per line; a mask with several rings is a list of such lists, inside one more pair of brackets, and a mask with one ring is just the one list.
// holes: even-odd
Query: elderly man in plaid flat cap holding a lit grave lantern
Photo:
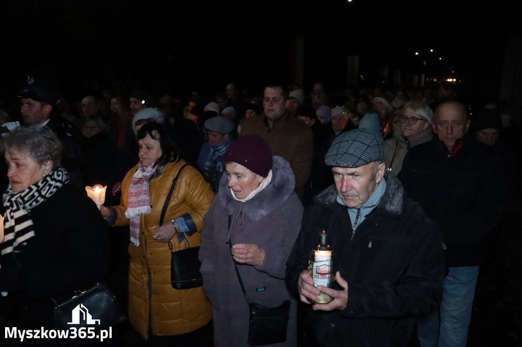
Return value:
[[(405, 346), (417, 317), (440, 302), (444, 255), (437, 224), (385, 170), (381, 134), (340, 134), (325, 156), (335, 184), (305, 210), (287, 283), (307, 304), (306, 345)], [(331, 288), (314, 287), (319, 231), (331, 240)], [(333, 301), (315, 303), (325, 293)]]

